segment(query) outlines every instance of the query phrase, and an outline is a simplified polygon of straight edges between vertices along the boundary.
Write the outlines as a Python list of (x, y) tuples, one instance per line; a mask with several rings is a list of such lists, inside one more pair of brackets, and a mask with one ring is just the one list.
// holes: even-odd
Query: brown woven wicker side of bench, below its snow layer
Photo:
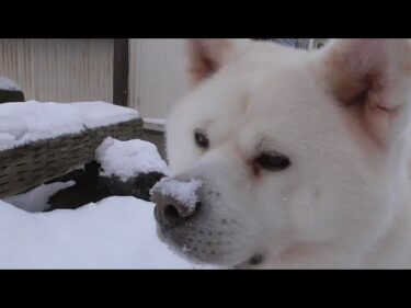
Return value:
[(0, 198), (23, 193), (61, 176), (94, 158), (104, 138), (141, 138), (142, 121), (132, 121), (61, 135), (0, 151)]

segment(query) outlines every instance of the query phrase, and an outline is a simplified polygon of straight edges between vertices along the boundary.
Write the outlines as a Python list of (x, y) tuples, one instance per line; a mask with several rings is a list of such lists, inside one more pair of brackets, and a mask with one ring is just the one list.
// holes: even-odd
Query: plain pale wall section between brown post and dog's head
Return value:
[(129, 105), (142, 117), (165, 117), (186, 92), (185, 41), (129, 41)]

